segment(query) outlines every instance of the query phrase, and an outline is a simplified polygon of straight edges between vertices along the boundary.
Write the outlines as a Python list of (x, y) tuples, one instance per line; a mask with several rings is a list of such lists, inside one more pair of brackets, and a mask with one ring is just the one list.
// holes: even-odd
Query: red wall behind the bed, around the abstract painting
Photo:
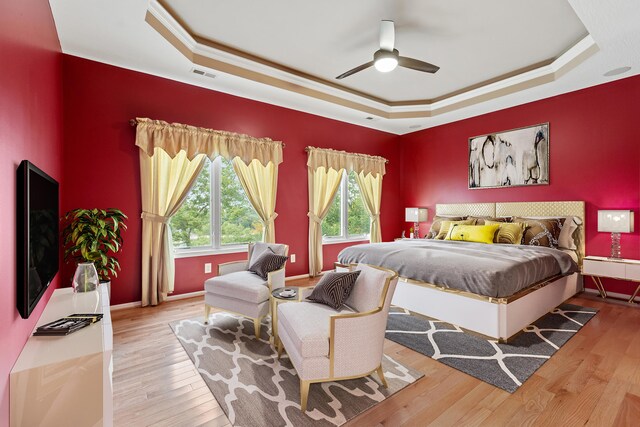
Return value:
[[(436, 203), (584, 200), (586, 253), (603, 256), (610, 236), (597, 232), (597, 211), (633, 209), (636, 232), (622, 235), (622, 255), (639, 258), (638, 99), (635, 76), (403, 136), (403, 205), (427, 206), (433, 218)], [(550, 185), (468, 189), (469, 137), (544, 122), (550, 127)], [(607, 286), (625, 294), (635, 289), (628, 282)]]

